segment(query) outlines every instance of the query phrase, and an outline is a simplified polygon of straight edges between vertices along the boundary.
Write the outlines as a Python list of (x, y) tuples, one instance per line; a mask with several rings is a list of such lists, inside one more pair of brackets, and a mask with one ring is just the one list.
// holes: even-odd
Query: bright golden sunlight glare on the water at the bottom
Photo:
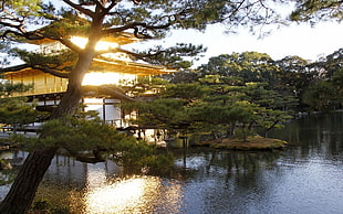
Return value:
[(169, 207), (168, 212), (176, 213), (180, 185), (173, 183), (166, 188), (162, 182), (157, 176), (132, 176), (100, 186), (89, 185), (84, 194), (85, 213), (152, 213), (160, 202)]

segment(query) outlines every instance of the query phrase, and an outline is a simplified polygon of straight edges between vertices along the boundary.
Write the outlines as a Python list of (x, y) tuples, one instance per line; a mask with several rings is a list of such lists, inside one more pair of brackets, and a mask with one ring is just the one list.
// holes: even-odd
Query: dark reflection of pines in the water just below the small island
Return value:
[(240, 152), (240, 151), (220, 151), (207, 150), (201, 152), (187, 153), (187, 157), (177, 157), (177, 162), (186, 160), (184, 164), (177, 164), (178, 172), (187, 180), (187, 178), (204, 180), (211, 175), (222, 176), (228, 182), (233, 179), (239, 185), (240, 182), (253, 182), (254, 178), (260, 173), (260, 168), (272, 168), (276, 160), (280, 158), (280, 151), (274, 152)]

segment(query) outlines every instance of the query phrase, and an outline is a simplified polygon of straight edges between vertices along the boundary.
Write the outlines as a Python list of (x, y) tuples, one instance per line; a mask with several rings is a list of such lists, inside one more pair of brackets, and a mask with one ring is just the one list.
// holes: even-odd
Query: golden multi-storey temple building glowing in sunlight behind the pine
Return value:
[[(118, 47), (137, 40), (129, 33), (122, 33), (115, 38), (100, 41), (96, 50)], [(86, 39), (80, 36), (73, 36), (71, 41), (80, 47), (83, 47), (87, 42)], [(56, 50), (66, 49), (53, 40), (30, 41), (30, 43), (38, 45), (38, 52), (43, 54), (54, 54)], [(123, 122), (124, 116), (121, 115), (119, 104), (121, 100), (129, 99), (131, 96), (115, 86), (132, 86), (137, 83), (141, 76), (154, 76), (170, 72), (173, 71), (166, 69), (164, 66), (134, 62), (123, 52), (102, 54), (93, 58), (92, 66), (83, 79), (82, 85), (91, 89), (84, 93), (81, 101), (85, 104), (85, 110), (96, 110), (102, 120), (123, 128), (127, 125)], [(37, 109), (41, 110), (49, 110), (49, 108), (59, 105), (60, 98), (67, 87), (67, 78), (33, 68), (7, 72), (4, 78), (13, 84), (32, 85), (30, 90), (11, 96), (27, 96), (30, 100), (35, 99), (38, 100)]]

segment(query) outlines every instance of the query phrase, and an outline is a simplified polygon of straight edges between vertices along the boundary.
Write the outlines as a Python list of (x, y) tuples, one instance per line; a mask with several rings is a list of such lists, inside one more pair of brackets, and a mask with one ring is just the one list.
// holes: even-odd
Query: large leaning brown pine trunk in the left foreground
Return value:
[[(106, 2), (106, 1), (104, 1)], [(102, 22), (105, 13), (93, 19), (91, 35), (84, 50), (79, 52), (79, 61), (69, 75), (69, 85), (59, 107), (52, 113), (51, 119), (73, 115), (82, 97), (81, 83), (89, 71), (95, 53), (95, 45), (102, 36)], [(44, 135), (44, 133), (42, 133)], [(58, 148), (38, 150), (29, 154), (15, 178), (10, 192), (0, 204), (1, 214), (24, 214), (30, 208), (37, 189), (54, 158)]]

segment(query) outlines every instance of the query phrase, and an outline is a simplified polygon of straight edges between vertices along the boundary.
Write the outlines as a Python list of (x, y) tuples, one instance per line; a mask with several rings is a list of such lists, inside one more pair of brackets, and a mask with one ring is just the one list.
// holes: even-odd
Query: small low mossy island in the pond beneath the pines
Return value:
[(229, 150), (281, 150), (288, 145), (287, 141), (261, 136), (250, 136), (246, 141), (238, 139), (217, 139), (202, 141), (197, 146), (207, 146), (216, 149)]

